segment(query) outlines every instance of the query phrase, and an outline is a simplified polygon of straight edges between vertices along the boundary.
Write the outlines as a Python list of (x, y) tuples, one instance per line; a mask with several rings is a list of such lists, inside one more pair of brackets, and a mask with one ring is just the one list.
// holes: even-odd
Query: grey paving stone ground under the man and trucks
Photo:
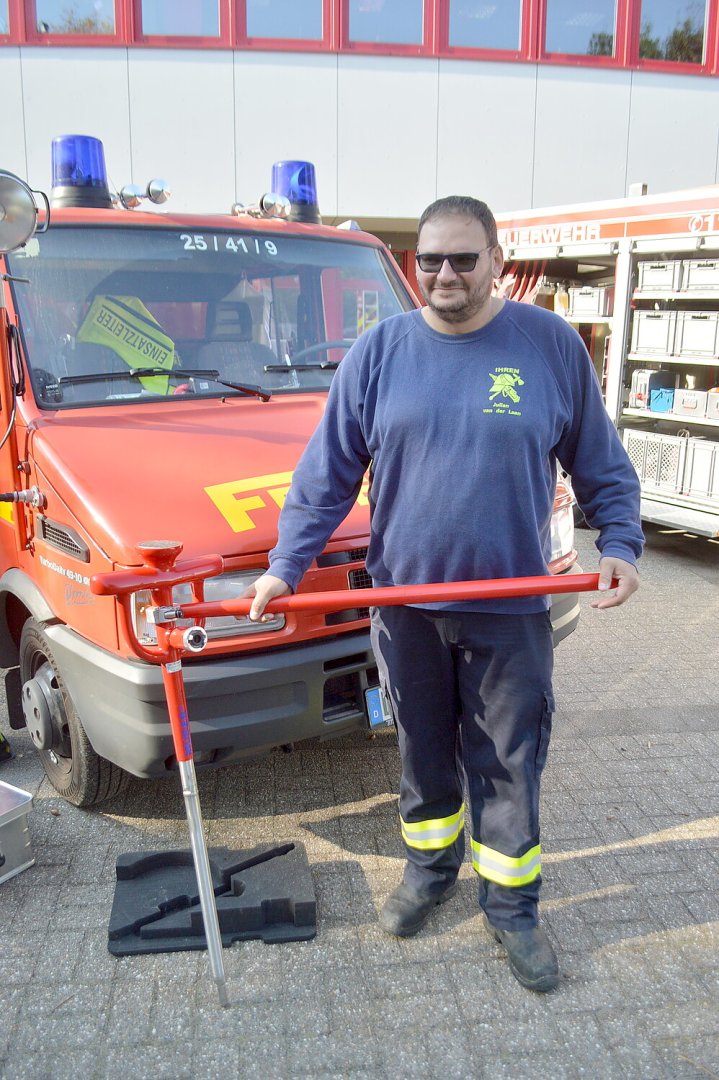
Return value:
[[(719, 545), (648, 527), (642, 588), (583, 598), (556, 656), (543, 788), (543, 919), (562, 967), (533, 995), (457, 897), (398, 941), (377, 912), (399, 878), (394, 737), (361, 733), (201, 775), (208, 841), (301, 840), (312, 942), (107, 951), (114, 862), (187, 847), (177, 782), (133, 781), (95, 811), (42, 780), (28, 737), (0, 779), (30, 791), (37, 863), (0, 886), (0, 1077), (719, 1077)], [(585, 569), (593, 535), (578, 532)]]

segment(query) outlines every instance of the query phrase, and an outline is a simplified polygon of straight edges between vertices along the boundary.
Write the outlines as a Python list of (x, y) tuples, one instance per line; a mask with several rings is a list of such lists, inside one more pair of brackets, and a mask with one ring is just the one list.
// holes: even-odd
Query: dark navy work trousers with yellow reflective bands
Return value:
[(548, 612), (374, 609), (372, 647), (399, 739), (405, 881), (438, 894), (457, 877), (466, 784), (479, 905), (500, 930), (537, 926)]

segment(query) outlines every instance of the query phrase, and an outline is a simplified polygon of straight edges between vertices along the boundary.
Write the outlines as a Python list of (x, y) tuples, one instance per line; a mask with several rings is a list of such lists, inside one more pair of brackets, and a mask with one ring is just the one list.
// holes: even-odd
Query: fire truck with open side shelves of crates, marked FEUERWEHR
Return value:
[(502, 214), (500, 289), (594, 359), (646, 521), (719, 536), (719, 187)]

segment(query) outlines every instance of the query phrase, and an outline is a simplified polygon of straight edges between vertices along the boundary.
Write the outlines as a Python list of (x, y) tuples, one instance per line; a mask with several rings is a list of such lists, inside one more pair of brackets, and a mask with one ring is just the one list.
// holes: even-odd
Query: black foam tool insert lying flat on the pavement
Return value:
[[(222, 945), (261, 937), (306, 941), (316, 934), (317, 907), (301, 843), (250, 851), (209, 849)], [(120, 855), (108, 948), (114, 956), (206, 948), (191, 851)]]

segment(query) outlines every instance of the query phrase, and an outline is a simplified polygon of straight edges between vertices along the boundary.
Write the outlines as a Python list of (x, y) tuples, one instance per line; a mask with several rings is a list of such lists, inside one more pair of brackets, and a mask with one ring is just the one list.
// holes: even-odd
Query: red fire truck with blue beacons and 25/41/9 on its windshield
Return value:
[[(180, 217), (126, 208), (134, 189), (118, 205), (97, 140), (56, 143), (52, 208), (0, 173), (0, 664), (11, 727), (89, 806), (127, 772), (177, 766), (160, 665), (91, 576), (137, 566), (144, 540), (180, 540), (185, 557), (223, 558), (207, 599), (242, 595), (334, 369), (417, 300), (375, 237), (320, 224), (307, 164), (280, 163), (284, 194), (257, 206)], [(363, 489), (301, 585), (357, 590), (354, 608), (207, 621), (207, 648), (184, 664), (199, 767), (369, 726), (368, 532)], [(559, 485), (551, 569), (575, 558)], [(149, 603), (135, 595), (133, 621), (151, 644)], [(557, 639), (578, 617), (575, 595), (556, 597)]]

